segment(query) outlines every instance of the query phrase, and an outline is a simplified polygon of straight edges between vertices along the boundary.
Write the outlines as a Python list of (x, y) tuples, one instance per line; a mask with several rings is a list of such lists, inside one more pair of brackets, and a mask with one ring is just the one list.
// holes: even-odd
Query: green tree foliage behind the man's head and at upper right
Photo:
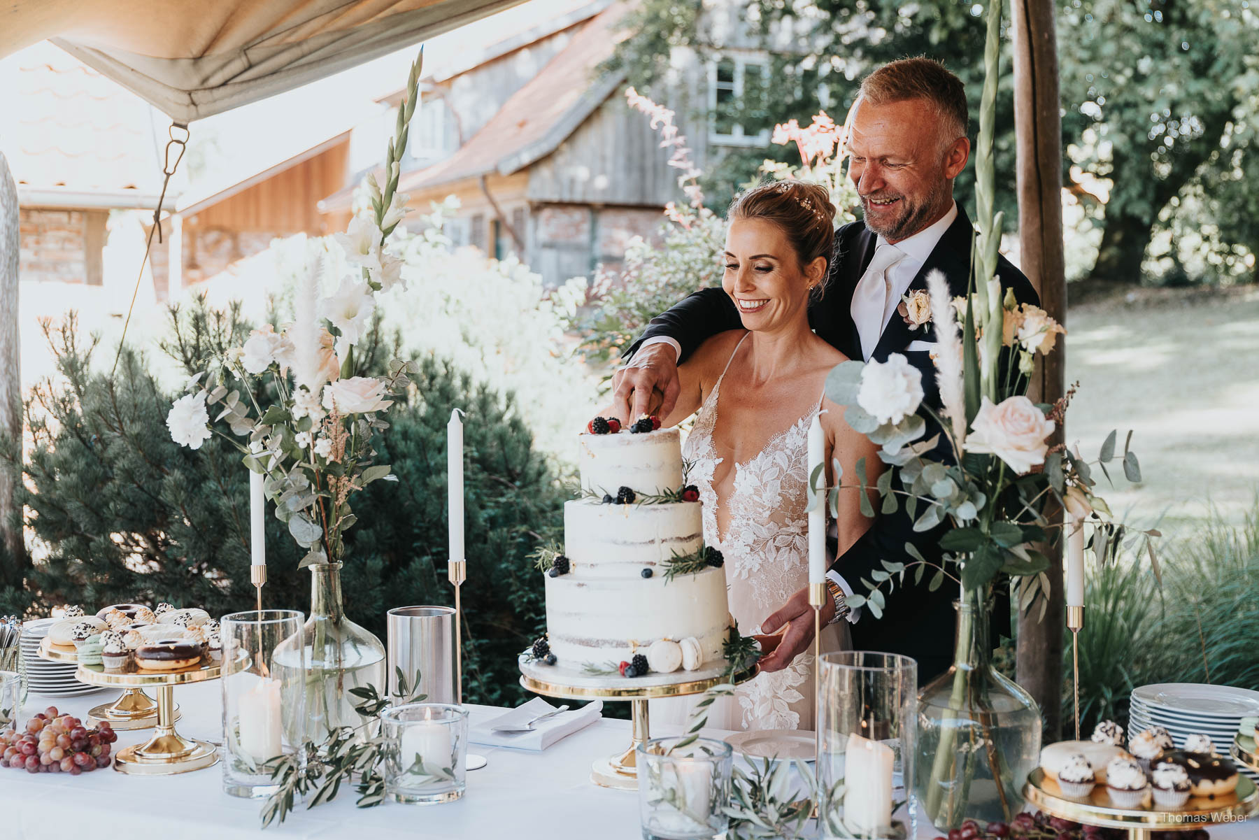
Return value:
[[(888, 0), (730, 0), (730, 18), (748, 23), (771, 47), (771, 83), (749, 87), (743, 99), (709, 115), (706, 98), (690, 103), (697, 116), (730, 117), (750, 130), (826, 108), (837, 121), (852, 105), (861, 77), (905, 55), (944, 62), (967, 87), (978, 113), (983, 76), (986, 4)], [(1185, 275), (1177, 241), (1202, 243), (1211, 257), (1197, 272), (1207, 280), (1241, 276), (1254, 267), (1259, 210), (1251, 189), (1259, 164), (1253, 149), (1259, 108), (1250, 93), (1259, 64), (1259, 16), (1245, 0), (1058, 0), (1063, 105), (1063, 176), (1085, 204), (1087, 225), (1100, 228), (1092, 277), (1138, 282)], [(632, 37), (616, 63), (631, 83), (670, 82), (662, 50), (686, 45), (709, 59), (726, 29), (708, 15), (671, 11), (646, 0), (627, 21)], [(1008, 15), (1007, 15), (1008, 20)], [(803, 30), (783, 47), (778, 34)], [(719, 37), (716, 33), (721, 33)], [(997, 99), (997, 207), (1015, 222), (1015, 135), (1011, 33), (1003, 28)], [(776, 40), (777, 39), (777, 40)], [(977, 130), (972, 118), (972, 140)], [(781, 147), (742, 149), (709, 166), (705, 188), (715, 201), (730, 185), (749, 180)], [(1100, 180), (1099, 180), (1100, 179)], [(963, 173), (954, 195), (969, 207), (973, 176)], [(1149, 248), (1151, 242), (1156, 242)], [(1148, 253), (1147, 253), (1148, 249)], [(1143, 268), (1144, 263), (1144, 268)]]

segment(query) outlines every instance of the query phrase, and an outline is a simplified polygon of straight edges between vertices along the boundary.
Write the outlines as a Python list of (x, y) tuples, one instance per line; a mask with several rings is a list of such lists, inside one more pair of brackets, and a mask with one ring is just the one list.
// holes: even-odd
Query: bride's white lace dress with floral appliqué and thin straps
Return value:
[[(747, 336), (744, 336), (747, 339)], [(742, 345), (743, 341), (740, 340)], [(738, 353), (738, 346), (735, 353)], [(734, 359), (731, 354), (730, 359)], [(730, 364), (726, 363), (726, 370)], [(704, 542), (725, 557), (730, 613), (744, 636), (760, 633), (760, 622), (808, 583), (808, 426), (813, 407), (789, 428), (774, 434), (754, 457), (734, 466), (734, 486), (718, 500), (713, 475), (726, 456), (713, 441), (718, 400), (725, 372), (704, 399), (695, 426), (682, 445), (691, 462), (690, 481), (704, 502)], [(718, 529), (718, 505), (729, 511), (726, 533)], [(847, 625), (822, 628), (822, 652), (847, 646)], [(697, 698), (651, 704), (653, 722), (685, 723)], [(812, 646), (786, 669), (744, 683), (733, 698), (719, 698), (709, 712), (718, 729), (812, 729)]]

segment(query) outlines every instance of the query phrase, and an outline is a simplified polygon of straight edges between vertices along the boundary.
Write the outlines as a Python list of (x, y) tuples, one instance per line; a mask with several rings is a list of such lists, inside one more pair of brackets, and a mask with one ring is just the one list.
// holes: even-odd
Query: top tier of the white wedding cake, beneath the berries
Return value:
[(682, 486), (682, 445), (676, 428), (578, 437), (582, 489), (617, 494), (663, 494)]

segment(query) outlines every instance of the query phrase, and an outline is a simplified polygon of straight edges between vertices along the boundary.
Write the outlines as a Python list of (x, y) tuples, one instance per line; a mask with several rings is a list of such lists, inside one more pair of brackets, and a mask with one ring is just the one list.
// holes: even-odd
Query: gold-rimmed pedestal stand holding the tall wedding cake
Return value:
[[(611, 787), (618, 791), (638, 790), (638, 744), (646, 743), (651, 738), (651, 725), (647, 714), (647, 700), (661, 698), (686, 696), (690, 694), (703, 694), (714, 685), (726, 681), (724, 670), (715, 676), (703, 676), (689, 683), (674, 683), (669, 685), (633, 685), (636, 680), (627, 679), (626, 686), (596, 686), (582, 685), (564, 680), (564, 675), (546, 678), (539, 674), (543, 669), (553, 670), (551, 665), (526, 664), (520, 661), (520, 685), (534, 694), (541, 694), (560, 700), (630, 700), (630, 715), (632, 720), (632, 735), (630, 747), (606, 758), (597, 758), (590, 764), (590, 781), (601, 787)], [(711, 670), (711, 669), (709, 669)], [(708, 674), (708, 671), (704, 671)], [(735, 674), (730, 680), (735, 685), (747, 683), (757, 675), (757, 667), (752, 666)], [(582, 680), (588, 683), (589, 680)]]

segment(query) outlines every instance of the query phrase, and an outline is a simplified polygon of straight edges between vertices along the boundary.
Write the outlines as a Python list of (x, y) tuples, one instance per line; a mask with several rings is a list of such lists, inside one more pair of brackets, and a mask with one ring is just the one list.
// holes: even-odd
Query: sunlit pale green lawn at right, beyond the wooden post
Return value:
[[(1095, 457), (1112, 428), (1144, 482), (1103, 495), (1119, 519), (1200, 520), (1209, 504), (1240, 521), (1259, 489), (1259, 288), (1142, 290), (1069, 311), (1068, 384), (1080, 388), (1066, 441)], [(1103, 487), (1105, 480), (1102, 479)]]

